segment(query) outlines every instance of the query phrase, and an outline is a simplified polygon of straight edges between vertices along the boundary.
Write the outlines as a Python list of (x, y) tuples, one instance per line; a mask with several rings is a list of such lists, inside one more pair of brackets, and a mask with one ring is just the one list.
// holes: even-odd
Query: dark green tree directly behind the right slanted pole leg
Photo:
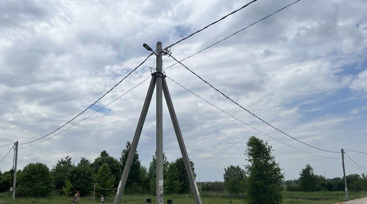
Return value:
[[(185, 168), (185, 163), (183, 162), (182, 157), (181, 158), (177, 158), (174, 161), (174, 164), (177, 168), (177, 172), (178, 172), (178, 181), (181, 184), (181, 189), (179, 193), (189, 193), (191, 192), (191, 187), (190, 187), (190, 180), (189, 180), (189, 176), (187, 175), (186, 172), (186, 168)], [(195, 173), (195, 168), (194, 168), (194, 163), (192, 161), (190, 161), (191, 164), (191, 168), (192, 168), (192, 172), (194, 173), (194, 177), (196, 178), (196, 173)]]

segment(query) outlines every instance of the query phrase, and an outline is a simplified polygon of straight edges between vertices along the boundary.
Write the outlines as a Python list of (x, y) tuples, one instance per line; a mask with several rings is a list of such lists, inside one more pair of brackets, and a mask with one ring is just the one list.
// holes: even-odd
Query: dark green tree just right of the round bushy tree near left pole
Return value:
[(67, 155), (65, 159), (57, 161), (57, 164), (52, 166), (51, 172), (54, 176), (54, 185), (56, 189), (62, 189), (62, 186), (68, 180), (69, 170), (74, 164), (71, 162), (71, 157)]

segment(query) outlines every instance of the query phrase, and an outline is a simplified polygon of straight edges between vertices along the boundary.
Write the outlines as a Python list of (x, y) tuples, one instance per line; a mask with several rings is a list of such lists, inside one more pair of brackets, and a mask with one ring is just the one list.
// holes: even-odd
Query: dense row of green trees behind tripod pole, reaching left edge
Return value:
[[(105, 189), (117, 187), (130, 147), (131, 143), (127, 142), (119, 160), (102, 151), (94, 162), (81, 157), (77, 165), (71, 161), (69, 155), (61, 158), (51, 169), (46, 164), (30, 163), (17, 172), (17, 196), (44, 197), (54, 190), (67, 196), (76, 191), (86, 195), (92, 192), (94, 185)], [(191, 167), (195, 171), (193, 162)], [(195, 172), (194, 175), (196, 177)], [(155, 155), (148, 169), (141, 165), (139, 154), (135, 151), (124, 193), (155, 194), (155, 185)], [(190, 183), (182, 158), (168, 162), (164, 155), (164, 185), (168, 194), (190, 192)], [(4, 173), (0, 171), (0, 192), (7, 191), (10, 186), (12, 186), (12, 170)], [(113, 193), (99, 188), (96, 188), (96, 191), (104, 195)]]

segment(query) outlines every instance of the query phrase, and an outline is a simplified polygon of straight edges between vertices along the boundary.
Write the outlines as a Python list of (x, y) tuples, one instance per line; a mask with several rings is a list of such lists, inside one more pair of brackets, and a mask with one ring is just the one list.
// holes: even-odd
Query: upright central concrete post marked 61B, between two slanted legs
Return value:
[(156, 203), (163, 204), (163, 112), (162, 112), (162, 43), (157, 42), (157, 155), (156, 155)]

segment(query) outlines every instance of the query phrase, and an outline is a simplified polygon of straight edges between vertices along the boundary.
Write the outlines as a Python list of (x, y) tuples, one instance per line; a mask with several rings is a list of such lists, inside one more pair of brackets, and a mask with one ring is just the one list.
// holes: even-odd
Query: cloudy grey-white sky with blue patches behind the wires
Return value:
[[(252, 3), (173, 46), (172, 56), (188, 57), (292, 2)], [(166, 47), (246, 3), (248, 0), (1, 1), (0, 145), (32, 141), (69, 121), (148, 56), (143, 43), (154, 48), (161, 41)], [(364, 0), (301, 0), (183, 63), (254, 114), (305, 143), (331, 151), (366, 151), (366, 7)], [(154, 61), (155, 57), (150, 57), (63, 129), (148, 78)], [(163, 56), (164, 68), (173, 63), (172, 58)], [(284, 143), (324, 157), (341, 157), (267, 126), (179, 64), (166, 74)], [(246, 164), (243, 154), (251, 135), (273, 146), (286, 179), (298, 178), (306, 164), (317, 174), (325, 171), (328, 178), (342, 176), (341, 159), (316, 157), (288, 147), (170, 79), (167, 83), (198, 181), (223, 180), (225, 167)], [(18, 168), (29, 162), (44, 162), (51, 168), (66, 155), (76, 164), (80, 157), (94, 161), (102, 150), (118, 158), (125, 143), (132, 140), (148, 86), (146, 80), (76, 126), (19, 150)], [(154, 94), (138, 145), (146, 166), (156, 146), (155, 100)], [(163, 107), (164, 152), (172, 161), (180, 157), (180, 151), (165, 101)], [(9, 149), (0, 147), (1, 158)], [(367, 166), (366, 155), (347, 153)], [(0, 164), (1, 171), (12, 167), (11, 157)], [(346, 173), (362, 171), (346, 162)]]

